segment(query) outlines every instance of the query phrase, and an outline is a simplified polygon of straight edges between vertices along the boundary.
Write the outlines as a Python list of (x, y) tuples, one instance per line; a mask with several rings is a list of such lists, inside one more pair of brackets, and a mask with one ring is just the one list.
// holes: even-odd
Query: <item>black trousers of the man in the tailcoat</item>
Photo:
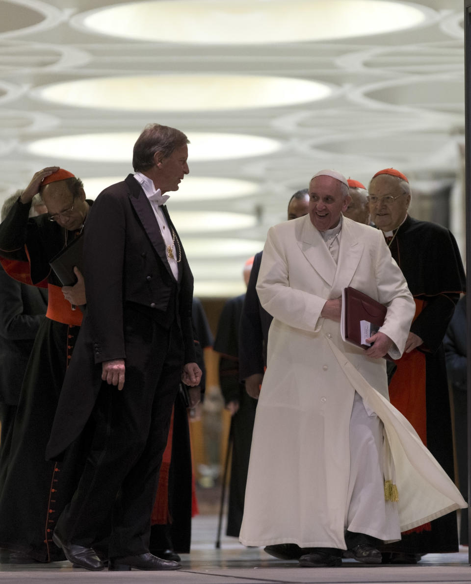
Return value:
[(102, 383), (95, 434), (77, 491), (57, 523), (64, 541), (86, 547), (110, 521), (109, 557), (148, 551), (150, 516), (183, 366), (179, 326), (169, 330), (133, 308), (124, 312), (124, 388)]

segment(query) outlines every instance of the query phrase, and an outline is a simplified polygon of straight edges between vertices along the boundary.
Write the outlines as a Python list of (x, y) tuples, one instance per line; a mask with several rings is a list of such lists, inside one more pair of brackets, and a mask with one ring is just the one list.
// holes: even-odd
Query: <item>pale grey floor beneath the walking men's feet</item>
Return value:
[(265, 554), (261, 548), (245, 548), (235, 538), (221, 537), (216, 550), (217, 516), (193, 519), (192, 552), (182, 556), (175, 572), (88, 572), (69, 562), (11, 564), (0, 557), (0, 584), (307, 584), (307, 583), (402, 583), (470, 582), (467, 548), (458, 554), (429, 554), (414, 566), (365, 566), (344, 560), (341, 568), (300, 568)]

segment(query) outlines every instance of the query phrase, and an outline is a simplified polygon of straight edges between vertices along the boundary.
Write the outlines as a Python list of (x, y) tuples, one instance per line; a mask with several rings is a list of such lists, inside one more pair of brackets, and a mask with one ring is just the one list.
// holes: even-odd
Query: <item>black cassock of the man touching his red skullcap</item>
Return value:
[[(51, 273), (49, 259), (78, 231), (65, 232), (49, 221), (46, 214), (29, 219), (29, 208), (17, 201), (0, 225), (0, 255), (28, 262), (25, 266), (30, 282), (39, 284), (47, 279), (49, 308), (54, 312), (57, 299), (60, 300), (61, 283)], [(65, 311), (67, 305), (70, 310), (70, 304), (64, 301)], [(69, 316), (70, 322), (77, 322), (80, 312), (70, 311)], [(30, 359), (21, 372), (25, 377), (11, 436), (8, 471), (2, 472), (0, 484), (0, 547), (23, 552), (40, 562), (65, 559), (51, 536), (58, 515), (74, 492), (81, 469), (83, 454), (78, 443), (60, 463), (45, 460), (47, 440), (78, 331), (77, 324), (49, 317), (41, 322)]]

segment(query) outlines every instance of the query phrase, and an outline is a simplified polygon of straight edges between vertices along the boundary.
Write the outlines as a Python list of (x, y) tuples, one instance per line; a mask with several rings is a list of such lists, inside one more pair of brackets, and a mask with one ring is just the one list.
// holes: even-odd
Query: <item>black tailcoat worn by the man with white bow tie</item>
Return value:
[[(176, 233), (167, 210), (164, 212)], [(102, 361), (126, 359), (126, 304), (167, 329), (176, 319), (183, 335), (185, 363), (195, 361), (193, 276), (185, 251), (181, 246), (176, 282), (154, 211), (133, 175), (97, 197), (84, 237), (87, 307), (46, 450), (50, 459), (71, 444), (89, 419), (101, 387)]]

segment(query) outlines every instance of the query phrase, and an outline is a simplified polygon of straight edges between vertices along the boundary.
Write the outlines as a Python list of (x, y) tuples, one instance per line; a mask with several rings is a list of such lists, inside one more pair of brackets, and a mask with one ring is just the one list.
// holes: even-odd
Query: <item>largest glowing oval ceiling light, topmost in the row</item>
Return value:
[(74, 23), (160, 43), (279, 44), (393, 32), (420, 25), (431, 13), (383, 0), (160, 0), (108, 6)]

